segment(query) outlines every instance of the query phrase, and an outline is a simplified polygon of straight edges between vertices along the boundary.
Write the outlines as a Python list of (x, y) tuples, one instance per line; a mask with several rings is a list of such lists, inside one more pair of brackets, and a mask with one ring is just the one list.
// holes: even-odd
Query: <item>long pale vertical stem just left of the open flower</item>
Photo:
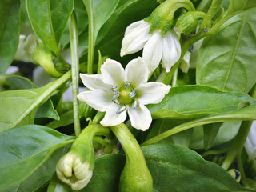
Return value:
[(78, 115), (78, 92), (79, 92), (79, 57), (78, 57), (78, 28), (74, 12), (70, 15), (70, 50), (71, 50), (71, 71), (72, 71), (72, 95), (74, 110), (74, 133), (78, 137), (81, 133), (80, 120)]

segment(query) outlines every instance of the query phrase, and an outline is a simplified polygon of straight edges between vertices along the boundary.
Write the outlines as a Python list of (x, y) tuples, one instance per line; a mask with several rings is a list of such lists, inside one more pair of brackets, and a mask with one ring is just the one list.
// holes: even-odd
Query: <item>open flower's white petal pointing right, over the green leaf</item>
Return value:
[(139, 95), (138, 101), (143, 105), (161, 102), (166, 94), (169, 93), (170, 86), (162, 82), (148, 82), (137, 88)]

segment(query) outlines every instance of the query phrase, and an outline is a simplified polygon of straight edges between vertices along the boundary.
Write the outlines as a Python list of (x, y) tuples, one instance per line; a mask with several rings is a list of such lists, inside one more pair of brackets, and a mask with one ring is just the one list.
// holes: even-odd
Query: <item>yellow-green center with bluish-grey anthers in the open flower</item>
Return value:
[(121, 105), (117, 114), (121, 114), (126, 110), (126, 105), (132, 104), (133, 109), (138, 107), (138, 100), (136, 99), (137, 91), (131, 86), (130, 82), (126, 82), (119, 89), (118, 86), (111, 86), (111, 90), (114, 92), (112, 102)]

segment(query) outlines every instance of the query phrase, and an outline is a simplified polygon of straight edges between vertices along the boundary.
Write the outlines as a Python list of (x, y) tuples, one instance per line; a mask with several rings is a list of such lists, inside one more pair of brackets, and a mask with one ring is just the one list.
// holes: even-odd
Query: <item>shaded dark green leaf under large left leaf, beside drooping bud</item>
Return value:
[(22, 191), (34, 191), (38, 190), (41, 186), (45, 185), (46, 182), (52, 178), (56, 164), (59, 158), (66, 152), (66, 148), (63, 147), (59, 150), (54, 151), (54, 154), (50, 156), (46, 162), (39, 166), (28, 178), (22, 182), (15, 183), (13, 186), (7, 187), (1, 192), (22, 192)]

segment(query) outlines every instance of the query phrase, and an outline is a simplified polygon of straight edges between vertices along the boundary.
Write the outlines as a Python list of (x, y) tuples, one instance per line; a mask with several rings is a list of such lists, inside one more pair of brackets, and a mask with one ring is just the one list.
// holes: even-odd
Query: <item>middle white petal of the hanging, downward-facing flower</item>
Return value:
[(162, 35), (155, 31), (144, 46), (142, 58), (145, 60), (150, 71), (154, 71), (162, 58)]

